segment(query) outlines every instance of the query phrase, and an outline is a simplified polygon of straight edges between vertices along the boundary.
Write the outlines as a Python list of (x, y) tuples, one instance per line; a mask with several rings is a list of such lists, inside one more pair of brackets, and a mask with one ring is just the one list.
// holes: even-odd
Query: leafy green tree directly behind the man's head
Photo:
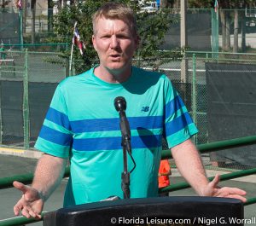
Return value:
[[(73, 67), (76, 72), (84, 72), (97, 63), (96, 51), (93, 49), (91, 43), (92, 23), (91, 15), (96, 12), (102, 3), (106, 0), (87, 0), (83, 2), (76, 2), (72, 5), (62, 8), (54, 18), (54, 31), (57, 38), (55, 42), (72, 43), (73, 25), (77, 21), (77, 27), (81, 40), (85, 43), (86, 49), (84, 55), (80, 55), (79, 49), (74, 48), (73, 51)], [(114, 2), (114, 1), (113, 1)], [(172, 53), (158, 51), (160, 44), (163, 43), (168, 27), (173, 20), (171, 16), (160, 9), (154, 12), (147, 12), (141, 9), (141, 6), (136, 1), (121, 0), (116, 1), (130, 5), (137, 15), (137, 27), (140, 35), (140, 46), (137, 50), (135, 58), (147, 59), (147, 65), (157, 68), (162, 63), (160, 59), (166, 57), (177, 57), (180, 55), (173, 55)], [(71, 44), (70, 44), (71, 46)], [(70, 49), (62, 52), (62, 56), (68, 59)], [(145, 61), (141, 61), (142, 63)], [(143, 65), (140, 65), (143, 66)]]

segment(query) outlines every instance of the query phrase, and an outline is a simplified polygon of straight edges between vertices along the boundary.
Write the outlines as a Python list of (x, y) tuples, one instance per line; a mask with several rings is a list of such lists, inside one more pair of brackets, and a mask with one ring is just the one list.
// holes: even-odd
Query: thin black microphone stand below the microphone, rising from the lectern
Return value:
[(131, 193), (130, 193), (130, 172), (128, 171), (127, 166), (127, 148), (126, 144), (127, 142), (130, 142), (129, 138), (127, 136), (122, 136), (122, 147), (123, 147), (123, 159), (124, 159), (124, 171), (122, 172), (122, 183), (121, 188), (124, 193), (125, 199), (130, 199)]

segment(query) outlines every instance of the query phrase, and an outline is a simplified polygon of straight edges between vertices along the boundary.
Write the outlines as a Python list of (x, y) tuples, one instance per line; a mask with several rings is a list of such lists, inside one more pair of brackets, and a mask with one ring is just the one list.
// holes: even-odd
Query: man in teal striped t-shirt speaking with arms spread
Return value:
[[(116, 96), (127, 100), (132, 156), (131, 198), (158, 195), (162, 135), (183, 177), (200, 195), (246, 201), (238, 188), (218, 188), (219, 177), (209, 183), (195, 145), (197, 129), (183, 101), (165, 75), (131, 66), (137, 49), (136, 20), (131, 9), (107, 3), (93, 16), (92, 43), (100, 65), (58, 85), (35, 148), (44, 152), (32, 186), (14, 182), (23, 193), (14, 207), (25, 217), (41, 217), (44, 202), (61, 182), (67, 158), (71, 175), (64, 206), (123, 197), (119, 114)], [(128, 159), (129, 170), (133, 167)]]

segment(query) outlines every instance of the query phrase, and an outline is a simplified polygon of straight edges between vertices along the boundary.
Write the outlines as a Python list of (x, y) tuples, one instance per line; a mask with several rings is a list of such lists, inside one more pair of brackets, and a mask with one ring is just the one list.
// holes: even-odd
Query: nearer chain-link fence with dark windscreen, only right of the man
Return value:
[[(196, 144), (255, 135), (255, 54), (188, 51), (184, 59), (170, 59), (159, 71), (166, 73), (183, 97), (199, 129), (193, 137)], [(165, 143), (164, 149), (167, 149)], [(256, 165), (256, 146), (202, 157), (209, 169), (247, 169)], [(173, 161), (172, 167), (175, 167)]]

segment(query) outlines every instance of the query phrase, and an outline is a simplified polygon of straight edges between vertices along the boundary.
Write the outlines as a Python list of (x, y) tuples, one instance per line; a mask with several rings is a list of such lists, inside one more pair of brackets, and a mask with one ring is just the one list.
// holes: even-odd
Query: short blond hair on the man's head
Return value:
[(111, 20), (123, 20), (131, 28), (131, 32), (137, 35), (137, 24), (133, 11), (122, 3), (105, 3), (92, 15), (93, 32), (96, 34), (96, 24), (100, 18)]

